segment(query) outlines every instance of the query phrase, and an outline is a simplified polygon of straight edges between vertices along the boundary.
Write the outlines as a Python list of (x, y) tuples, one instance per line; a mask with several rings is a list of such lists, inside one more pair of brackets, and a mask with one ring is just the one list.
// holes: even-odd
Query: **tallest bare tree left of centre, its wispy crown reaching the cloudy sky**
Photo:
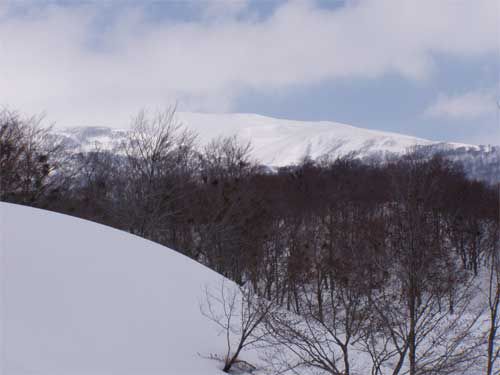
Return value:
[(193, 175), (195, 136), (175, 117), (175, 107), (153, 116), (141, 111), (122, 145), (120, 215), (128, 230), (171, 245), (169, 225)]

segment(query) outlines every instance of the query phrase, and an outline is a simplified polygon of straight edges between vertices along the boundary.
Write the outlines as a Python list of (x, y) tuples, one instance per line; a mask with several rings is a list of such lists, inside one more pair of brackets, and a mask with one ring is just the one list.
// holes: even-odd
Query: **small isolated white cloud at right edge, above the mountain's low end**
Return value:
[(491, 115), (495, 111), (493, 90), (470, 91), (458, 95), (440, 94), (425, 115), (436, 118), (471, 119)]

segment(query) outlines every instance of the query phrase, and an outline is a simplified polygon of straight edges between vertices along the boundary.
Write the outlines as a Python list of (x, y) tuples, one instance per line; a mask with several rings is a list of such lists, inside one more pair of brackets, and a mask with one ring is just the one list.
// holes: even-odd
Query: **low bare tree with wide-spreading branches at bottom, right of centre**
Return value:
[(305, 368), (314, 368), (331, 375), (352, 373), (351, 350), (369, 317), (366, 295), (354, 284), (352, 279), (336, 280), (333, 285), (322, 283), (319, 290), (314, 284), (305, 284), (300, 314), (281, 310), (268, 316), (267, 342), (274, 349), (268, 361), (278, 366), (275, 370), (300, 374)]

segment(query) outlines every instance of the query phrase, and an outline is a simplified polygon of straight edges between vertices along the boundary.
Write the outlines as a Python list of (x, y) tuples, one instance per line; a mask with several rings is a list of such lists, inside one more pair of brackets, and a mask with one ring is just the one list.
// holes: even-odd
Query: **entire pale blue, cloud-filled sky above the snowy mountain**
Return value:
[(500, 144), (498, 0), (0, 2), (0, 106), (331, 120)]

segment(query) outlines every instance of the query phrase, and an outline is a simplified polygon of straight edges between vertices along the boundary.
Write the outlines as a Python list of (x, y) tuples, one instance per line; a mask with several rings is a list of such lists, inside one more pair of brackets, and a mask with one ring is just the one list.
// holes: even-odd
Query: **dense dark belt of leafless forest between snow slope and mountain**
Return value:
[[(300, 317), (268, 320), (274, 347), (295, 354), (285, 367), (349, 374), (357, 345), (374, 375), (495, 373), (498, 192), (459, 164), (415, 150), (271, 173), (235, 138), (198, 148), (173, 110), (139, 114), (117, 150), (67, 154), (36, 122), (0, 116), (1, 200), (128, 231), (252, 285)], [(482, 270), (490, 320), (472, 343)]]

